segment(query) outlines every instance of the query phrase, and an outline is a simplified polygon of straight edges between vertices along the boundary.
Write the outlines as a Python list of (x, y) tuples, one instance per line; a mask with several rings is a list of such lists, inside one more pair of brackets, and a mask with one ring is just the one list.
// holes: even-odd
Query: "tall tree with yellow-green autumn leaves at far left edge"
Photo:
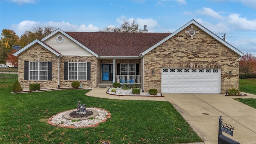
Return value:
[(18, 42), (19, 37), (13, 30), (3, 29), (0, 40), (0, 63), (6, 64), (9, 52), (12, 52), (13, 46)]

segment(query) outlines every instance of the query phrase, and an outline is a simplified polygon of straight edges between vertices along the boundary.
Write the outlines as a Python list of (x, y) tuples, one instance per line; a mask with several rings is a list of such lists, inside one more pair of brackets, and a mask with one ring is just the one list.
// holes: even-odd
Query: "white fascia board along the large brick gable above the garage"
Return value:
[(176, 30), (175, 32), (173, 32), (172, 34), (170, 34), (170, 36), (167, 36), (166, 38), (164, 38), (163, 40), (161, 40), (160, 42), (158, 42), (157, 44), (155, 44), (154, 46), (152, 46), (151, 48), (149, 48), (148, 50), (144, 51), (141, 55), (144, 56), (145, 54), (147, 54), (148, 52), (150, 52), (151, 50), (153, 50), (154, 48), (156, 48), (157, 46), (159, 46), (160, 44), (164, 43), (166, 40), (172, 38), (172, 36), (178, 34), (180, 31), (182, 31), (184, 28), (190, 26), (191, 24), (194, 24), (195, 26), (197, 26), (198, 28), (202, 29), (204, 32), (206, 32), (207, 34), (209, 34), (210, 36), (212, 36), (213, 38), (215, 38), (216, 40), (218, 40), (220, 43), (224, 44), (225, 46), (227, 46), (228, 48), (230, 48), (231, 50), (233, 50), (234, 52), (236, 52), (236, 54), (243, 56), (244, 54), (236, 49), (234, 46), (228, 44), (228, 42), (222, 40), (220, 37), (216, 36), (216, 34), (212, 33), (210, 30), (208, 30), (207, 28), (205, 28), (204, 26), (202, 26), (201, 24), (199, 24), (198, 22), (196, 22), (195, 20), (191, 20), (190, 22), (188, 22), (187, 24), (185, 24), (184, 26), (182, 26), (181, 28), (179, 28), (178, 30)]

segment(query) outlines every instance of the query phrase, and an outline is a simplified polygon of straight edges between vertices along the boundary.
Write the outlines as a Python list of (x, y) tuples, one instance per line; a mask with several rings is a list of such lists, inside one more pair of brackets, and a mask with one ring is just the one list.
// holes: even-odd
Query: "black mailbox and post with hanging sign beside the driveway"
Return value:
[(233, 136), (234, 127), (230, 126), (229, 124), (222, 124), (222, 118), (219, 118), (219, 134), (218, 134), (218, 144), (240, 144), (239, 142), (224, 136), (222, 132), (225, 132), (231, 136)]

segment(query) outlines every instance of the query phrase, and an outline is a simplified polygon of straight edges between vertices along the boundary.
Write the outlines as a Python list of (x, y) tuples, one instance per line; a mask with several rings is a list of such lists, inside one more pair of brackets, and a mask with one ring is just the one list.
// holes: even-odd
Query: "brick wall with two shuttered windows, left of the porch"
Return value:
[[(52, 62), (52, 80), (24, 80), (24, 61)], [(58, 88), (58, 56), (35, 44), (19, 56), (18, 80), (22, 88), (29, 88), (29, 84), (40, 84), (41, 88)], [(64, 80), (64, 62), (91, 62), (91, 80)], [(99, 60), (95, 56), (63, 56), (60, 58), (60, 87), (71, 87), (74, 81), (80, 82), (83, 88), (96, 87), (100, 82)]]

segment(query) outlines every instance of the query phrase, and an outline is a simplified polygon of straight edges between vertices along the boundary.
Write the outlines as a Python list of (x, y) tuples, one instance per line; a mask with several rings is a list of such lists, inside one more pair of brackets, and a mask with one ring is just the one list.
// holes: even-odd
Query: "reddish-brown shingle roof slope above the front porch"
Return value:
[(98, 56), (139, 56), (171, 33), (66, 32)]

